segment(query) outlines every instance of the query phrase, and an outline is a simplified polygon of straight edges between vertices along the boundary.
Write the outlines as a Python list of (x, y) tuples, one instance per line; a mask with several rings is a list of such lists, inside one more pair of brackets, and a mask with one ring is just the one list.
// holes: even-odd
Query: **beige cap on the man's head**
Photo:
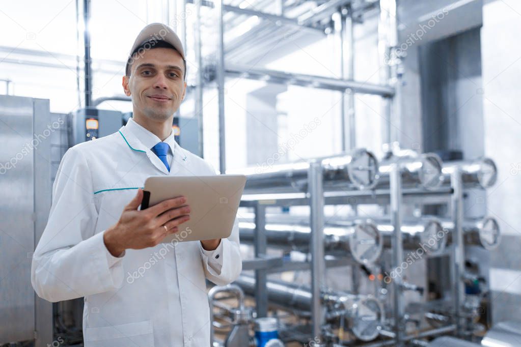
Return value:
[[(184, 49), (179, 39), (179, 36), (166, 24), (162, 23), (152, 23), (146, 25), (146, 27), (141, 30), (138, 34), (138, 37), (135, 38), (134, 44), (130, 49), (129, 59), (127, 60), (127, 65), (125, 67), (125, 71), (128, 69), (129, 60), (132, 58), (132, 54), (134, 50), (138, 49), (138, 47), (150, 42), (150, 47), (154, 46), (154, 43), (157, 41), (165, 41), (173, 46), (179, 52), (181, 57), (184, 59)], [(146, 46), (143, 47), (144, 50), (147, 49)], [(150, 49), (150, 48), (148, 48)]]

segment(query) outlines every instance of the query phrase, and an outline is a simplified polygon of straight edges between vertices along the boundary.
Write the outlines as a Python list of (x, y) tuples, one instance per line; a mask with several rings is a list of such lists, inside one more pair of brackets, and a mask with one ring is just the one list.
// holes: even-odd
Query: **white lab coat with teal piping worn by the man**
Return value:
[(86, 347), (207, 347), (205, 278), (225, 285), (240, 275), (237, 220), (215, 251), (204, 251), (199, 241), (129, 249), (120, 258), (107, 251), (104, 230), (118, 221), (147, 177), (215, 174), (203, 159), (170, 143), (170, 172), (129, 124), (70, 148), (61, 160), (31, 281), (48, 301), (84, 297)]

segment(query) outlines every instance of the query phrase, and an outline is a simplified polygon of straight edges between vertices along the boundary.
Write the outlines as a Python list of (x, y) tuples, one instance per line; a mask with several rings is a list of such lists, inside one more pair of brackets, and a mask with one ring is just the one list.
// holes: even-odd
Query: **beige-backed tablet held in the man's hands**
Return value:
[(190, 206), (190, 220), (181, 224), (177, 233), (165, 237), (163, 243), (227, 238), (245, 183), (244, 175), (148, 177), (141, 210), (184, 196)]

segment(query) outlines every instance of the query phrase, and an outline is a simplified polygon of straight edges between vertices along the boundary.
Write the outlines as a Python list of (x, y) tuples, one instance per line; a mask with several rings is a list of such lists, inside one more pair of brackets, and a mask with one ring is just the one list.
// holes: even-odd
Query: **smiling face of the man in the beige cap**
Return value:
[(187, 84), (183, 59), (176, 50), (148, 49), (132, 62), (130, 71), (130, 77), (123, 76), (123, 89), (132, 96), (134, 112), (167, 120), (179, 109)]

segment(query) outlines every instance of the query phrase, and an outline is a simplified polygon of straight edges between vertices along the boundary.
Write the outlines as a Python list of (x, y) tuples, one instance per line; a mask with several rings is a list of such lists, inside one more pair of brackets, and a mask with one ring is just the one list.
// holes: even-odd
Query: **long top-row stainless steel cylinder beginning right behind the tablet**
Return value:
[[(378, 161), (365, 149), (316, 161), (322, 166), (324, 190), (369, 189), (376, 183)], [(259, 172), (254, 169), (236, 171), (247, 174), (244, 194), (307, 192), (309, 165), (310, 162), (304, 161), (259, 168)]]

